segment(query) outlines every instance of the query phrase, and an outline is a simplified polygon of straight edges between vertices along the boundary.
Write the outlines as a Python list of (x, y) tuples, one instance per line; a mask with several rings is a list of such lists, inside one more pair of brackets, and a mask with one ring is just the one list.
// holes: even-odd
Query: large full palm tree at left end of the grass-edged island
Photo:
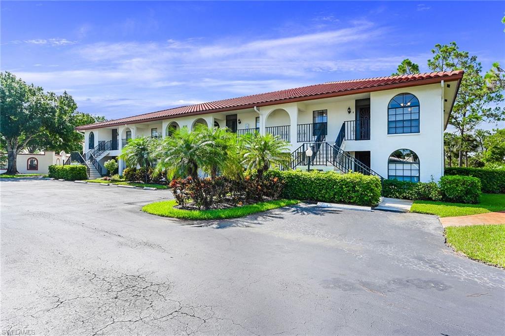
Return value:
[(163, 139), (154, 150), (158, 158), (155, 172), (166, 171), (170, 178), (198, 179), (198, 169), (211, 166), (217, 155), (215, 142), (206, 136), (203, 127), (193, 132), (183, 127)]

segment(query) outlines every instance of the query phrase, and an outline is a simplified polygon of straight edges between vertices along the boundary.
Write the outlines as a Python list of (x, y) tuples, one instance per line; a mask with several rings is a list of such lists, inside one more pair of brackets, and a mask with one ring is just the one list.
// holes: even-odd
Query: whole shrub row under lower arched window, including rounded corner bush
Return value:
[(382, 181), (382, 196), (411, 200), (479, 203), (481, 183), (471, 176), (442, 176), (436, 182)]

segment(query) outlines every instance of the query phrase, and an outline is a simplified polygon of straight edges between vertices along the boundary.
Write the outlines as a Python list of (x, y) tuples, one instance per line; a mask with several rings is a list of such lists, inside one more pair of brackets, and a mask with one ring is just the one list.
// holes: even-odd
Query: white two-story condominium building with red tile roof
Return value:
[[(92, 176), (105, 174), (104, 162), (118, 156), (128, 139), (168, 137), (175, 129), (203, 124), (238, 135), (279, 136), (290, 142), (294, 169), (306, 169), (310, 160), (313, 169), (426, 182), (443, 175), (443, 132), (462, 77), (463, 71), (451, 71), (328, 82), (76, 130), (84, 134), (82, 158)], [(122, 160), (119, 167), (126, 167)]]

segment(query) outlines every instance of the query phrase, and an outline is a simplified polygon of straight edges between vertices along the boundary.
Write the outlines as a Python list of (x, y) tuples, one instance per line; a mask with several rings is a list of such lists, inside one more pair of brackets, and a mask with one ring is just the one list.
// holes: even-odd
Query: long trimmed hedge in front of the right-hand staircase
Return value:
[(360, 173), (268, 171), (284, 184), (282, 197), (331, 203), (375, 206), (379, 204), (381, 183), (378, 177)]

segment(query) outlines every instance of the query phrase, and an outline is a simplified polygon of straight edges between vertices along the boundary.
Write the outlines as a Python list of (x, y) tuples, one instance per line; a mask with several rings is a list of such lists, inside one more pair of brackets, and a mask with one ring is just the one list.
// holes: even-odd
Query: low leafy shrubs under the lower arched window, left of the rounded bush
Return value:
[(427, 183), (383, 180), (382, 196), (425, 201), (439, 201), (442, 199), (440, 187), (433, 180)]

